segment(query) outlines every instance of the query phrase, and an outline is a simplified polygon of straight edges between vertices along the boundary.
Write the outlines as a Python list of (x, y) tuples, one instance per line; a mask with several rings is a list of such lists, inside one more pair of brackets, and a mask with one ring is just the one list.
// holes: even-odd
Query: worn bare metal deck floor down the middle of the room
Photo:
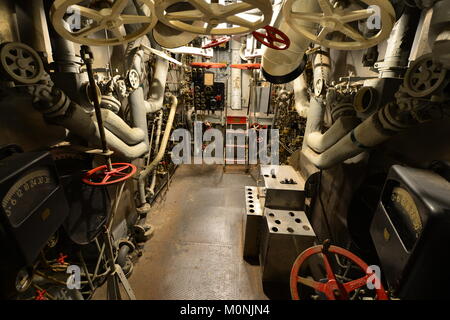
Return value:
[(250, 175), (222, 166), (177, 169), (129, 279), (138, 299), (267, 299), (259, 266), (242, 258), (246, 185)]

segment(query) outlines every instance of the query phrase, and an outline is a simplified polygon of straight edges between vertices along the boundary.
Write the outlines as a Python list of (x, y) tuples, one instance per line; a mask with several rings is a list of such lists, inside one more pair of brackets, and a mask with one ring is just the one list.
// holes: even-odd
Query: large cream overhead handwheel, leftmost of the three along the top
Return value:
[[(84, 0), (56, 0), (50, 11), (55, 30), (65, 39), (92, 46), (114, 46), (136, 40), (147, 34), (158, 21), (153, 0), (137, 0), (149, 15), (124, 14), (133, 0), (115, 0), (109, 8), (83, 6)], [(92, 4), (94, 2), (92, 1)], [(65, 16), (72, 13), (66, 21)], [(69, 24), (69, 29), (66, 25)], [(140, 25), (127, 34), (124, 25)]]

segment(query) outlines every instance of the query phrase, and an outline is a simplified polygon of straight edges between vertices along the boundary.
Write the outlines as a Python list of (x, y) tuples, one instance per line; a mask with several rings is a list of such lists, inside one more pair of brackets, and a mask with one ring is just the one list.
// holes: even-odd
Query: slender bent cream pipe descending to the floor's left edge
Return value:
[(169, 142), (170, 138), (170, 132), (172, 131), (172, 125), (173, 121), (175, 119), (175, 113), (177, 111), (178, 106), (178, 99), (174, 95), (170, 96), (171, 105), (170, 105), (170, 113), (169, 117), (167, 119), (166, 128), (164, 129), (164, 135), (161, 141), (161, 145), (159, 147), (159, 151), (156, 154), (153, 161), (145, 167), (144, 170), (142, 170), (139, 174), (139, 197), (141, 205), (145, 205), (147, 203), (146, 195), (145, 195), (145, 179), (148, 177), (148, 175), (156, 168), (158, 163), (161, 161), (161, 159), (164, 156), (164, 153), (166, 152), (167, 143)]

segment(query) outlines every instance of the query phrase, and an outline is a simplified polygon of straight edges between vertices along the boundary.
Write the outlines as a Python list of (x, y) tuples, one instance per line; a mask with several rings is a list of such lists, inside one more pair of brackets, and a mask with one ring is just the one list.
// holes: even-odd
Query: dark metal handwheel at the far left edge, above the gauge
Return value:
[(38, 53), (20, 42), (6, 42), (0, 46), (2, 73), (19, 84), (34, 84), (44, 75), (44, 65)]

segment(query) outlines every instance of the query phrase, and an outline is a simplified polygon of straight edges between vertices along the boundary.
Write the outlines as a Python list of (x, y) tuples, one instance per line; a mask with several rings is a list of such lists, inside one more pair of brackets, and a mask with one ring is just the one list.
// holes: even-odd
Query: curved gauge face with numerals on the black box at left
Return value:
[(13, 227), (25, 221), (39, 204), (57, 187), (46, 168), (23, 175), (2, 199), (2, 207)]

